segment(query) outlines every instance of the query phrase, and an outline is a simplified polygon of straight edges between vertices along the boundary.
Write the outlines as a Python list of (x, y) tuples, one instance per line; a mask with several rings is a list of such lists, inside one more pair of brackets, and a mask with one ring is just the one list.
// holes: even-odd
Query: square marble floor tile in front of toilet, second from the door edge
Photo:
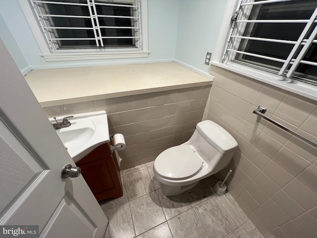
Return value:
[(129, 202), (136, 235), (166, 221), (155, 191)]

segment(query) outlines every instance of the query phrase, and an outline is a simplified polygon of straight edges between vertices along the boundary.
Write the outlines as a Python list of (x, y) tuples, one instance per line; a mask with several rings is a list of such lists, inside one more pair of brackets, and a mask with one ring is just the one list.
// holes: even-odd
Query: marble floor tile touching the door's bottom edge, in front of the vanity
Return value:
[(106, 238), (135, 237), (129, 203), (124, 203), (105, 212), (109, 219)]

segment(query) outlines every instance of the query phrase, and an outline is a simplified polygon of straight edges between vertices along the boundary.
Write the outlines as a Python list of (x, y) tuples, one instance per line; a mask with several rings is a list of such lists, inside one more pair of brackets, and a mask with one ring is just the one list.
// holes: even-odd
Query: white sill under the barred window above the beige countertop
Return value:
[(47, 62), (78, 61), (78, 60), (108, 60), (108, 59), (129, 59), (149, 57), (149, 51), (139, 52), (85, 52), (85, 53), (51, 53), (41, 56)]

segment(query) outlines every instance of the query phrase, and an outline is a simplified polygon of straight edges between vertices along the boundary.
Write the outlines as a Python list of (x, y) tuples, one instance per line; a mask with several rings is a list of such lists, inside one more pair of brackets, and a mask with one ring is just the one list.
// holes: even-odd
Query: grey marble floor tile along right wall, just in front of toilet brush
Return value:
[(227, 210), (232, 220), (238, 227), (249, 221), (247, 215), (242, 211), (238, 203), (228, 192), (223, 195), (216, 195), (216, 197)]

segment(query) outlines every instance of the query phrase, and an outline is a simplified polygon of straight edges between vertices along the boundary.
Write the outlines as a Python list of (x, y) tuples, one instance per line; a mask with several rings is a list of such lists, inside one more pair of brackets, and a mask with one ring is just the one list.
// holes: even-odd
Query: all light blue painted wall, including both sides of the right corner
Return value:
[[(18, 0), (0, 2), (0, 37), (20, 69), (122, 62), (178, 60), (208, 72), (206, 52), (213, 53), (227, 0), (148, 0), (148, 58), (46, 62)], [(8, 31), (9, 29), (9, 31)], [(13, 38), (13, 39), (12, 39)], [(25, 63), (25, 60), (26, 63)]]

